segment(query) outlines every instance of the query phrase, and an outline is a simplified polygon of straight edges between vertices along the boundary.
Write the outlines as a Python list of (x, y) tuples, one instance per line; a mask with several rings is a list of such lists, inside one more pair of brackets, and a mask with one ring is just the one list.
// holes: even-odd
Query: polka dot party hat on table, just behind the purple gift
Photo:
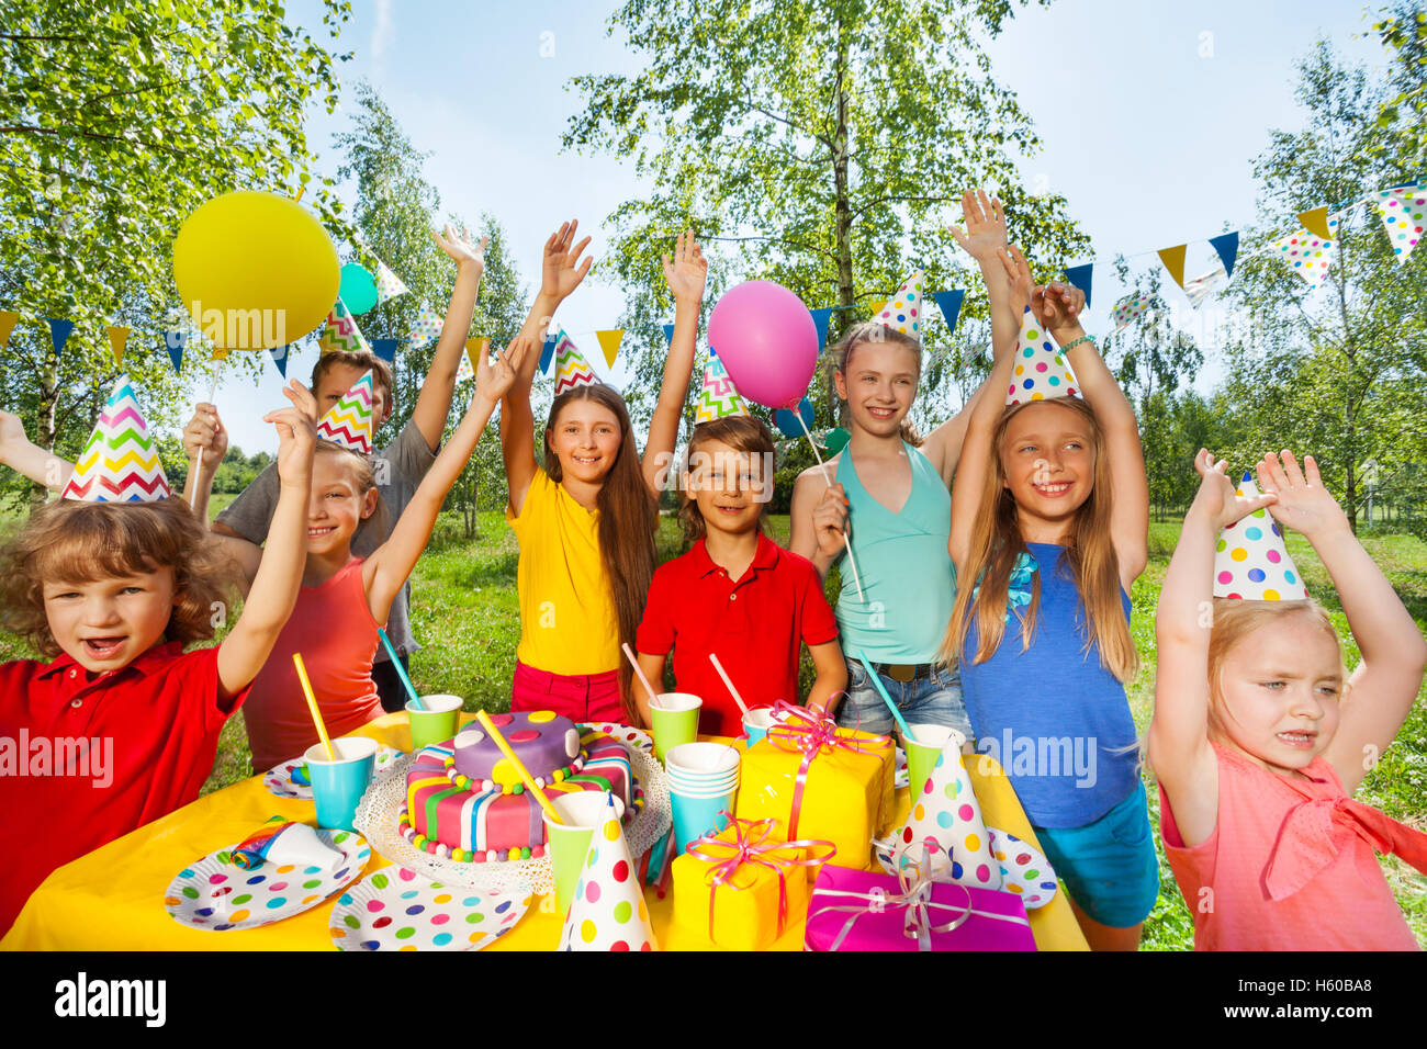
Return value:
[(942, 746), (932, 775), (915, 796), (912, 812), (899, 832), (898, 862), (903, 868), (918, 866), (925, 842), (932, 853), (932, 881), (999, 889), (1000, 863), (992, 856), (980, 802), (962, 765), (963, 742), (960, 732), (953, 732)]

